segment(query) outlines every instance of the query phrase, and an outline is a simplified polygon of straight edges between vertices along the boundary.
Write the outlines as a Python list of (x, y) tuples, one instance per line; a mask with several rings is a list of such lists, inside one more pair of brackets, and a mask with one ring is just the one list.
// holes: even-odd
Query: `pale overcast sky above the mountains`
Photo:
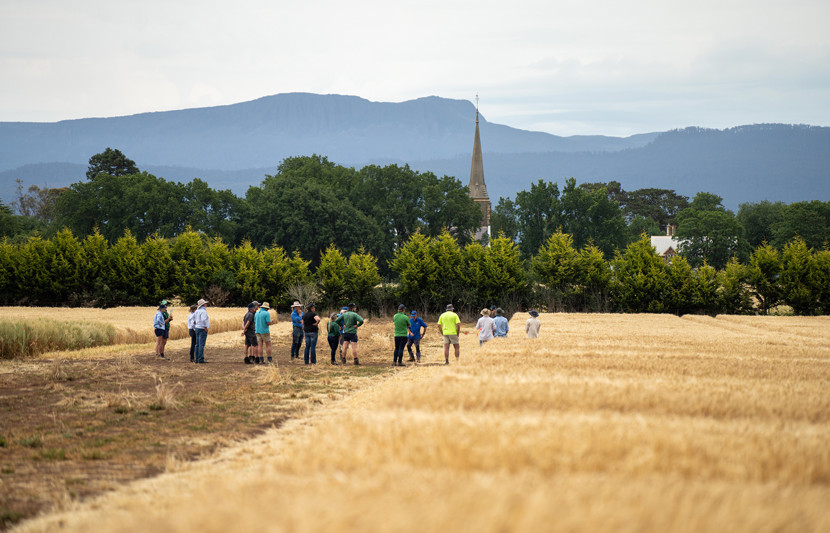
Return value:
[(0, 121), (302, 91), (478, 93), (557, 135), (830, 126), (829, 20), (827, 0), (0, 0)]

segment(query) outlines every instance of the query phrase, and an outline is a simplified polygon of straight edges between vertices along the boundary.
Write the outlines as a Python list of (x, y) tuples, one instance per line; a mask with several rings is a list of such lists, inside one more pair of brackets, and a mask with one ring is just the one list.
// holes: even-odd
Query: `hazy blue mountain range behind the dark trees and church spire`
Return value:
[[(85, 179), (89, 157), (118, 148), (166, 179), (199, 177), (244, 194), (286, 157), (320, 154), (360, 168), (409, 164), (467, 183), (476, 109), (436, 96), (401, 103), (290, 93), (250, 102), (54, 123), (0, 122), (0, 197), (25, 186)], [(479, 116), (484, 174), (495, 204), (538, 179), (616, 180), (626, 190), (718, 194), (727, 207), (764, 199), (830, 199), (830, 128), (760, 124), (690, 127), (630, 137), (531, 132)]]

